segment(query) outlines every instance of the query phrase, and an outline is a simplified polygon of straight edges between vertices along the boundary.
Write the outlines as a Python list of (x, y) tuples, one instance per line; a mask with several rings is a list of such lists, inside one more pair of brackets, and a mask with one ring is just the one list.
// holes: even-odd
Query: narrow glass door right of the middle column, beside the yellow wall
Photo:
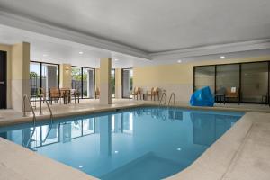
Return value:
[(122, 78), (122, 97), (130, 98), (130, 91), (133, 88), (133, 69), (123, 68), (121, 71)]

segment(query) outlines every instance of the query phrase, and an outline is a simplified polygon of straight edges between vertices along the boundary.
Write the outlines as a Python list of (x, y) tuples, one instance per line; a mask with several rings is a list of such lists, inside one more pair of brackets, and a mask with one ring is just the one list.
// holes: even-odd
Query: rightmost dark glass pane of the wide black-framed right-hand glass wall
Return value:
[(242, 102), (260, 103), (268, 94), (268, 63), (246, 63), (241, 67)]

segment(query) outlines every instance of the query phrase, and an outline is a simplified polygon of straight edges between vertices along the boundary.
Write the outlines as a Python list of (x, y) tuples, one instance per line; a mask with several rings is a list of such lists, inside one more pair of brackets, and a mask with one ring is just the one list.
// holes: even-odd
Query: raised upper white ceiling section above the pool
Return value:
[(0, 7), (145, 52), (270, 37), (269, 0), (0, 0)]

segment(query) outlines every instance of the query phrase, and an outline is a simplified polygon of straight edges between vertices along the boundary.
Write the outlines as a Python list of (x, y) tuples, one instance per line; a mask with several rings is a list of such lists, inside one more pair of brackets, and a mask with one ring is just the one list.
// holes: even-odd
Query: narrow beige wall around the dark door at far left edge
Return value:
[(6, 106), (7, 108), (12, 108), (12, 99), (11, 99), (11, 79), (12, 79), (12, 74), (11, 74), (11, 46), (9, 45), (3, 45), (0, 44), (0, 50), (6, 52), (6, 58), (7, 58), (7, 80), (6, 80)]

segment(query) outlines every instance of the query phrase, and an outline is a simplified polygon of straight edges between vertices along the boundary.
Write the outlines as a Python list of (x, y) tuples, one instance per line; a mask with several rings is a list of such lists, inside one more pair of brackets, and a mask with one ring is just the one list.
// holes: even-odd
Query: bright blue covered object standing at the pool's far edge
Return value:
[(193, 93), (190, 98), (192, 106), (210, 106), (214, 104), (214, 97), (209, 86), (203, 87)]

